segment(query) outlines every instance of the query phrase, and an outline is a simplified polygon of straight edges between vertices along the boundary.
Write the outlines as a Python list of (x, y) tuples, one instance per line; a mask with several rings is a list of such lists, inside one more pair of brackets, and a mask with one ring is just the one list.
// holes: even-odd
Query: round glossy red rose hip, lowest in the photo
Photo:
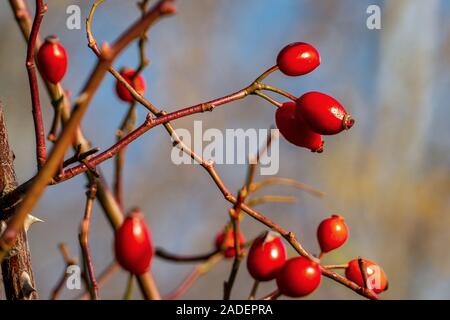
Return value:
[(288, 297), (304, 297), (317, 289), (321, 275), (320, 266), (308, 258), (289, 259), (278, 272), (278, 290)]

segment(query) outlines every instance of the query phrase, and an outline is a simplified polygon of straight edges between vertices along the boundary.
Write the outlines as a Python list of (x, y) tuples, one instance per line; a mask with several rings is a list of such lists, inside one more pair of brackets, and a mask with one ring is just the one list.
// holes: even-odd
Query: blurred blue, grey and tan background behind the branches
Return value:
[[(41, 28), (43, 36), (57, 34), (70, 54), (63, 85), (73, 97), (96, 62), (86, 45), (84, 28), (92, 2), (47, 0), (49, 11)], [(81, 30), (66, 28), (66, 9), (71, 4), (82, 9)], [(366, 9), (371, 4), (382, 9), (381, 30), (366, 26)], [(320, 155), (281, 138), (278, 176), (306, 182), (326, 196), (318, 199), (289, 187), (274, 187), (266, 193), (294, 195), (298, 203), (267, 204), (258, 209), (294, 231), (314, 253), (318, 253), (318, 223), (331, 214), (341, 214), (350, 227), (350, 240), (327, 255), (325, 263), (345, 263), (356, 256), (378, 262), (390, 284), (382, 298), (448, 298), (450, 2), (183, 0), (177, 7), (178, 14), (160, 21), (149, 34), (146, 97), (172, 111), (223, 96), (275, 64), (286, 44), (313, 44), (322, 56), (315, 72), (299, 78), (276, 73), (267, 82), (296, 95), (311, 90), (329, 93), (357, 123), (346, 133), (327, 137), (325, 152)], [(138, 14), (136, 1), (106, 1), (96, 12), (93, 31), (99, 42), (112, 42)], [(0, 29), (0, 99), (18, 179), (24, 182), (35, 174), (26, 45), (6, 1), (0, 3)], [(115, 62), (118, 68), (137, 64), (137, 45)], [(108, 75), (82, 125), (92, 144), (101, 149), (114, 143), (128, 108), (116, 98), (114, 83)], [(41, 96), (48, 128), (53, 111), (43, 86)], [(145, 114), (139, 108), (139, 123)], [(265, 129), (274, 123), (274, 107), (249, 97), (213, 113), (176, 121), (175, 126), (191, 130), (194, 119), (203, 121), (204, 130)], [(215, 234), (228, 219), (229, 204), (202, 168), (176, 166), (170, 161), (170, 152), (170, 140), (161, 127), (128, 148), (125, 205), (142, 208), (156, 246), (179, 254), (210, 251)], [(113, 161), (102, 164), (101, 169), (110, 179)], [(244, 182), (246, 166), (219, 165), (218, 171), (231, 190), (237, 191)], [(65, 268), (58, 243), (66, 243), (73, 255), (79, 254), (85, 184), (85, 177), (79, 176), (48, 188), (34, 210), (45, 220), (29, 232), (37, 289), (43, 299)], [(264, 230), (250, 218), (242, 228), (247, 239)], [(113, 251), (112, 231), (98, 206), (93, 212), (90, 245), (100, 273), (112, 261)], [(155, 258), (152, 270), (162, 294), (172, 292), (194, 266)], [(185, 297), (221, 298), (230, 269), (231, 261), (222, 261)], [(101, 289), (101, 298), (120, 299), (126, 281), (125, 272), (115, 273)], [(251, 285), (243, 264), (233, 298), (246, 298)], [(266, 284), (259, 294), (274, 288), (273, 282)], [(79, 294), (65, 290), (62, 298)], [(137, 288), (135, 298), (140, 298)], [(310, 298), (360, 297), (324, 279)]]

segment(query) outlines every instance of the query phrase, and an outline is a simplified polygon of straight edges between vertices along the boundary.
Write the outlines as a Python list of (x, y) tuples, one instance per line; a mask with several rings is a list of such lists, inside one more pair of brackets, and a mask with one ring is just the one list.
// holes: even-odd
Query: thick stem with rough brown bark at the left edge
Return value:
[[(16, 187), (14, 154), (9, 147), (3, 107), (0, 104), (0, 193), (3, 196)], [(34, 289), (34, 275), (25, 230), (19, 234), (10, 256), (3, 261), (1, 269), (5, 295), (8, 300), (38, 298)]]

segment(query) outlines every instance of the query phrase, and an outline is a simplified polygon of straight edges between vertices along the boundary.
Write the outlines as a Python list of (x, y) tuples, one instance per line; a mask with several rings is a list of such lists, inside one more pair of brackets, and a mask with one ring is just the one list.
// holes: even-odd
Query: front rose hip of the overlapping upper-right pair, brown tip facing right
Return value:
[(311, 130), (324, 135), (348, 130), (355, 123), (339, 101), (321, 92), (308, 92), (298, 98), (296, 114)]

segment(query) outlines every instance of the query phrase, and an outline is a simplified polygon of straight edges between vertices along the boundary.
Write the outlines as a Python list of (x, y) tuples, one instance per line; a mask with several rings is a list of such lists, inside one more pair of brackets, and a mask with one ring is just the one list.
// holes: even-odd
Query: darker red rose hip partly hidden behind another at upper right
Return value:
[(323, 152), (322, 136), (309, 129), (308, 125), (295, 114), (295, 102), (285, 102), (275, 112), (275, 123), (281, 135), (296, 146), (312, 152)]

